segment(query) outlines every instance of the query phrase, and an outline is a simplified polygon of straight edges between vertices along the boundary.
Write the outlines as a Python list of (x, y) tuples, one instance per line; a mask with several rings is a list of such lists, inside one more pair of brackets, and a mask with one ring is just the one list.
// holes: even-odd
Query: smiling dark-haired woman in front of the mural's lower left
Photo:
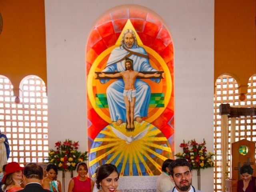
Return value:
[(116, 166), (104, 164), (100, 166), (96, 174), (96, 184), (99, 192), (120, 192), (118, 187), (119, 173)]

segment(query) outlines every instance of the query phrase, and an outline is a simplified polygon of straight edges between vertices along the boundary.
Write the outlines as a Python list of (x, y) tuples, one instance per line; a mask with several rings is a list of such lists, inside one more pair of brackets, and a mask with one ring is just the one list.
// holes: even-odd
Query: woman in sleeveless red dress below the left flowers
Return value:
[(73, 177), (68, 184), (68, 192), (92, 192), (93, 181), (88, 178), (88, 167), (86, 163), (78, 163), (76, 167), (78, 176)]

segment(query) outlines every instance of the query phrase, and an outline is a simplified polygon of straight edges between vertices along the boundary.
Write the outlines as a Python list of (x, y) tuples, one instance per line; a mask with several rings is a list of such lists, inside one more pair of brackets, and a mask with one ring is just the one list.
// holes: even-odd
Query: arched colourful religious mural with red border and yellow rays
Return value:
[(89, 172), (159, 175), (174, 153), (173, 45), (154, 14), (122, 8), (102, 17), (86, 50)]

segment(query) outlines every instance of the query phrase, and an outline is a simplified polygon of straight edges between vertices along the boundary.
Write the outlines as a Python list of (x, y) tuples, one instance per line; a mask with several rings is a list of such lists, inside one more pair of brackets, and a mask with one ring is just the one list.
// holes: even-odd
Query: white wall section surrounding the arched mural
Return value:
[[(214, 0), (130, 0), (166, 22), (174, 42), (175, 150), (183, 139), (206, 139), (213, 151)], [(96, 20), (121, 0), (45, 0), (50, 148), (86, 138), (86, 41)], [(213, 191), (213, 169), (201, 172)], [(193, 184), (197, 186), (196, 172)]]

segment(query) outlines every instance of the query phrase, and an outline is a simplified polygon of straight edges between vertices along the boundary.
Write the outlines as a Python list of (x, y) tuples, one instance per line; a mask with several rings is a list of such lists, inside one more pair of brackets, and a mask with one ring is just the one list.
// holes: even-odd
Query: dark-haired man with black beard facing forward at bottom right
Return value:
[(192, 173), (190, 163), (186, 159), (176, 159), (170, 166), (170, 178), (175, 187), (168, 192), (200, 192), (192, 185)]

